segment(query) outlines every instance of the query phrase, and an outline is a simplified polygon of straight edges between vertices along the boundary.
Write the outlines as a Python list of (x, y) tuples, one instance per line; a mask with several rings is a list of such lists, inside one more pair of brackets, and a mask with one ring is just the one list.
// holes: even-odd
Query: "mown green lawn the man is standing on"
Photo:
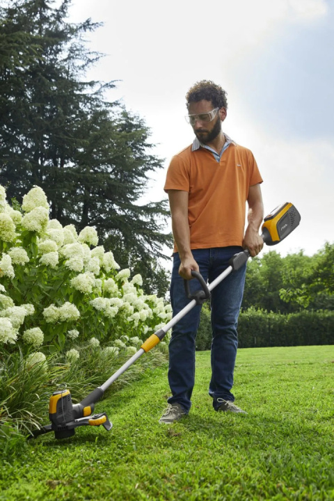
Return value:
[(334, 500), (334, 346), (241, 349), (236, 403), (215, 413), (198, 352), (189, 417), (158, 424), (166, 367), (97, 404), (109, 432), (31, 440), (1, 468), (0, 500)]

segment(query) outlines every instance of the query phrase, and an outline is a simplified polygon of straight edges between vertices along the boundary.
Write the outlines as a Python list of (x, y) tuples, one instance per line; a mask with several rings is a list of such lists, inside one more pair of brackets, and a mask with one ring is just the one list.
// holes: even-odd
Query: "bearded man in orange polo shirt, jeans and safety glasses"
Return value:
[[(263, 219), (262, 177), (250, 150), (223, 133), (228, 104), (225, 90), (200, 81), (186, 95), (186, 120), (196, 135), (193, 144), (173, 157), (168, 168), (168, 193), (175, 248), (170, 300), (173, 316), (189, 302), (184, 279), (199, 271), (212, 282), (228, 267), (232, 255), (248, 248), (260, 253)], [(246, 202), (248, 225), (246, 232)], [(245, 413), (234, 402), (231, 388), (237, 355), (237, 320), (244, 293), (246, 264), (212, 291), (212, 379), (209, 395), (215, 411)], [(192, 280), (191, 292), (199, 289)], [(159, 420), (170, 424), (189, 413), (195, 377), (197, 305), (173, 328), (169, 344), (168, 381), (172, 397)]]

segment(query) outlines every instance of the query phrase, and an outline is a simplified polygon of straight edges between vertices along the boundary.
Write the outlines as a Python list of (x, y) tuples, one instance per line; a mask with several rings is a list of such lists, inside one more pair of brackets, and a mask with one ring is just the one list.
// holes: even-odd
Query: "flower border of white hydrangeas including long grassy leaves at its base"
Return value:
[[(0, 186), (2, 438), (40, 422), (51, 383), (74, 384), (74, 395), (83, 397), (171, 317), (170, 305), (143, 293), (140, 275), (131, 278), (98, 246), (94, 228), (78, 234), (73, 225), (50, 221), (38, 186), (18, 209)], [(166, 344), (161, 351), (158, 345), (157, 355), (138, 367), (165, 352)]]

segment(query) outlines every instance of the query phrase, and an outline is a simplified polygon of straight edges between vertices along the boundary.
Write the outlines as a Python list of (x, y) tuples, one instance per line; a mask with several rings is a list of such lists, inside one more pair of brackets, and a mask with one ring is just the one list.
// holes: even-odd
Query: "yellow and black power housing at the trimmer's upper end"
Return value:
[(262, 238), (264, 243), (273, 246), (279, 244), (301, 222), (301, 214), (292, 203), (286, 202), (264, 218)]

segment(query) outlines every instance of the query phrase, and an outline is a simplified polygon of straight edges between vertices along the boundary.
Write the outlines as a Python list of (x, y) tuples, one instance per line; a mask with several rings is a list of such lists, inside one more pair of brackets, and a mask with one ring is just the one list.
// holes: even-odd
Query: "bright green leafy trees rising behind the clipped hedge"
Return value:
[(283, 314), (334, 310), (334, 244), (312, 256), (270, 251), (250, 260), (242, 308), (250, 307)]

